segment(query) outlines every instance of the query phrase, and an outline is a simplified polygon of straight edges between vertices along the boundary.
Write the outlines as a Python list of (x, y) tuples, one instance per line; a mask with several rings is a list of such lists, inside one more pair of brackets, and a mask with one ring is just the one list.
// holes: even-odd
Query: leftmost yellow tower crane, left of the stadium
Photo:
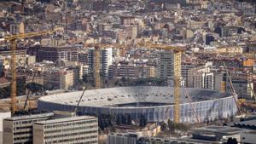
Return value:
[(10, 43), (10, 49), (11, 49), (11, 112), (14, 114), (16, 112), (16, 96), (17, 96), (17, 70), (16, 70), (16, 55), (15, 50), (17, 47), (17, 40), (24, 39), (24, 38), (31, 38), (31, 37), (38, 37), (47, 35), (50, 33), (55, 32), (55, 30), (52, 31), (42, 31), (42, 32), (29, 32), (29, 33), (20, 33), (16, 35), (6, 36), (3, 37), (3, 41), (8, 41)]

